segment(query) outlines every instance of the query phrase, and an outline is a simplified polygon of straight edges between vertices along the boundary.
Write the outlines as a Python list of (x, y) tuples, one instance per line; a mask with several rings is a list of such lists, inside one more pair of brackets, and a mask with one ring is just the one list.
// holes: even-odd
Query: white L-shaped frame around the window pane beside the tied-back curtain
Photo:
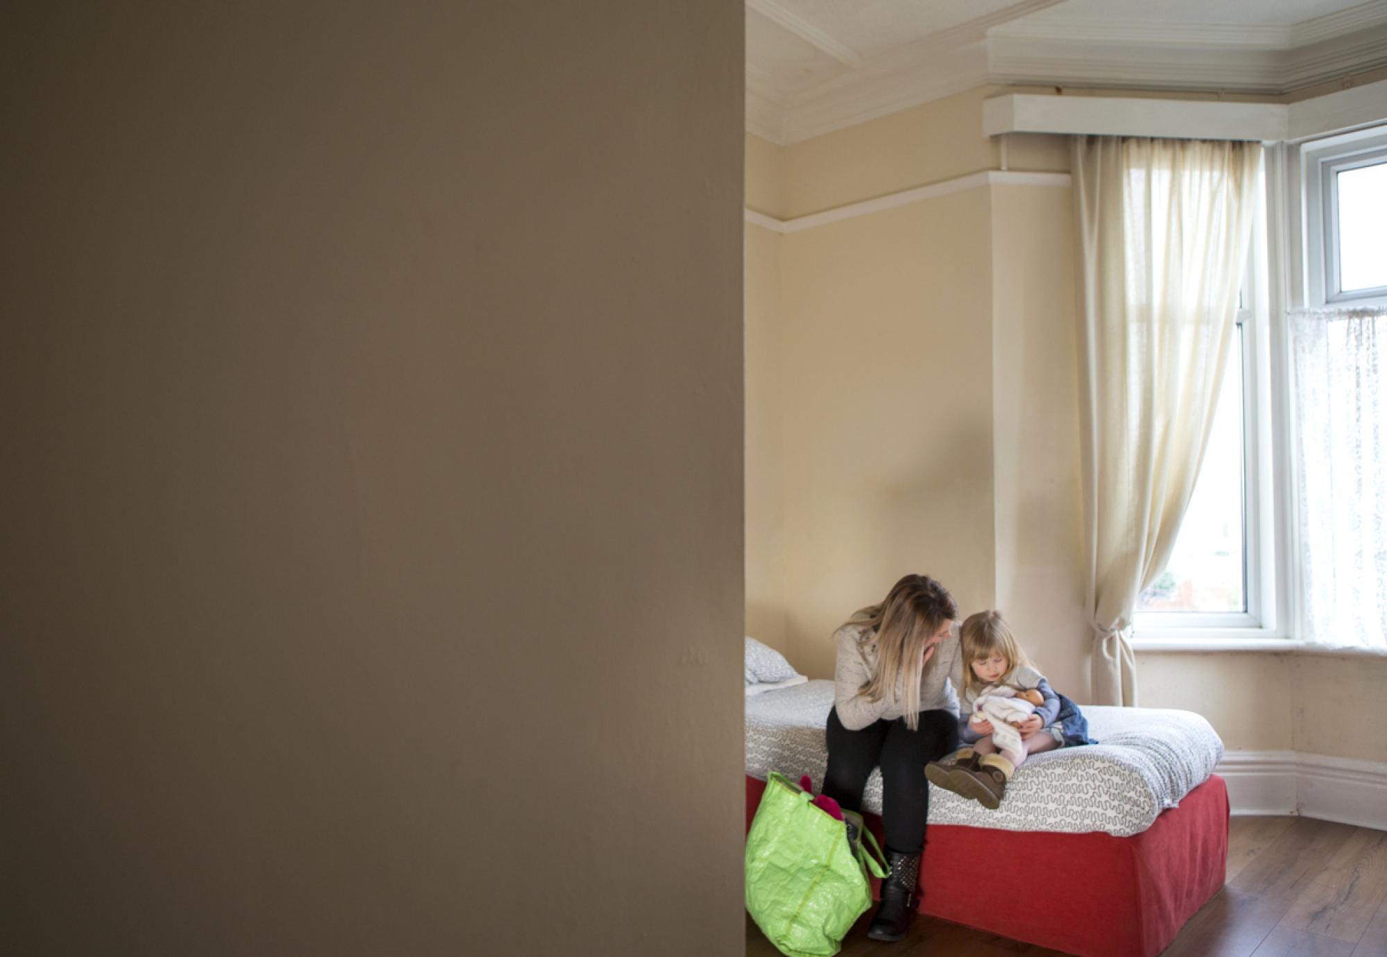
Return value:
[(1252, 241), (1243, 277), (1243, 302), (1237, 320), (1243, 327), (1243, 548), (1246, 612), (1137, 612), (1133, 645), (1139, 650), (1219, 648), (1280, 648), (1287, 635), (1279, 627), (1284, 616), (1277, 605), (1282, 563), (1276, 555), (1277, 483), (1273, 472), (1272, 436), (1272, 283), (1269, 282), (1266, 196), (1259, 193)]

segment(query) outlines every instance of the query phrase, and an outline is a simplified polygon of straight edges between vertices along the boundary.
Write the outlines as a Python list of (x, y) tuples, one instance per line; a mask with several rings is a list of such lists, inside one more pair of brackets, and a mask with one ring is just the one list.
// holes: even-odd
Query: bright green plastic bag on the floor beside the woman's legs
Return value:
[(871, 907), (865, 871), (886, 877), (881, 847), (852, 817), (857, 834), (871, 843), (847, 842), (847, 827), (814, 807), (811, 793), (771, 773), (760, 807), (746, 834), (746, 910), (782, 954), (832, 957), (843, 936)]

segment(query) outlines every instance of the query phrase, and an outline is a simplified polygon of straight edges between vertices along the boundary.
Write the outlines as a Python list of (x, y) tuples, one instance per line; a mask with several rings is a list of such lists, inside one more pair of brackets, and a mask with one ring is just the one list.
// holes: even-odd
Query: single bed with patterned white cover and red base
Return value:
[[(831, 681), (746, 699), (746, 822), (766, 774), (822, 782)], [(920, 910), (1083, 957), (1151, 957), (1223, 885), (1227, 792), (1223, 755), (1198, 714), (1085, 707), (1097, 745), (1029, 759), (1000, 809), (929, 785), (929, 842)], [(881, 834), (881, 774), (867, 784)], [(1028, 892), (978, 907), (990, 875), (972, 861), (1035, 860)], [(978, 868), (974, 872), (974, 868)]]

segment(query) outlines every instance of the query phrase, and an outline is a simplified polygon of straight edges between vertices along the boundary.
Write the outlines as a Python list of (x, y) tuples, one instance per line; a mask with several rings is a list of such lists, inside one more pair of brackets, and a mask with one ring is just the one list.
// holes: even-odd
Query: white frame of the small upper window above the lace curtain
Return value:
[(1338, 173), (1380, 162), (1387, 162), (1387, 129), (1383, 126), (1301, 144), (1307, 305), (1387, 305), (1387, 286), (1350, 293), (1338, 288)]

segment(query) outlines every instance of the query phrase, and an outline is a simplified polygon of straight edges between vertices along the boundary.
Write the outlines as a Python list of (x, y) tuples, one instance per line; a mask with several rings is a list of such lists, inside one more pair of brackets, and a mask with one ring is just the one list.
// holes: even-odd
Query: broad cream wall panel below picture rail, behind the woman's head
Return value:
[(786, 621), (809, 674), (907, 571), (993, 601), (988, 226), (974, 190), (782, 237)]

